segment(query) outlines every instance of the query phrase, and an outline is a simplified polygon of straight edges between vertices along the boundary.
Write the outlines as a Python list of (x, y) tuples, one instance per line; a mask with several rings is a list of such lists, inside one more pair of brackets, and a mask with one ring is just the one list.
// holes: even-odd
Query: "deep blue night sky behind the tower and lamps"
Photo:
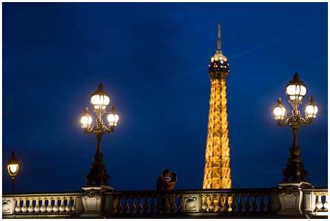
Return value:
[(12, 150), (17, 191), (85, 185), (96, 140), (79, 118), (100, 82), (120, 114), (102, 143), (111, 186), (155, 189), (168, 167), (201, 188), (218, 22), (233, 187), (281, 182), (292, 134), (272, 107), (289, 109), (294, 72), (319, 107), (298, 140), (307, 180), (327, 186), (327, 3), (3, 3), (3, 191)]

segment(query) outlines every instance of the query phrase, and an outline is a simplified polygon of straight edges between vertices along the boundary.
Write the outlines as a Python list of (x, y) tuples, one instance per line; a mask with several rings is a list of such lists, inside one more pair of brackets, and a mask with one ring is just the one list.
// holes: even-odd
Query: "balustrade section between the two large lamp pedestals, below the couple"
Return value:
[[(115, 191), (112, 194), (113, 208), (110, 210), (113, 216), (187, 213), (203, 215), (267, 214), (270, 213), (272, 207), (272, 193), (276, 194), (276, 191), (277, 188)], [(107, 195), (107, 193), (105, 194)], [(278, 202), (276, 203), (278, 204)]]

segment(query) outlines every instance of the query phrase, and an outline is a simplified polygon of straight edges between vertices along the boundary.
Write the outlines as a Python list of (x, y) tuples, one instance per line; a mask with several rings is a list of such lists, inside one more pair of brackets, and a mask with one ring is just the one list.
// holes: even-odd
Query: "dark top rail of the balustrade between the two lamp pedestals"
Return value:
[[(114, 191), (113, 194), (166, 194), (166, 193), (270, 193), (278, 191), (278, 187), (272, 188), (244, 188), (244, 189), (175, 189), (175, 190), (126, 190)], [(110, 194), (110, 193), (105, 193)]]

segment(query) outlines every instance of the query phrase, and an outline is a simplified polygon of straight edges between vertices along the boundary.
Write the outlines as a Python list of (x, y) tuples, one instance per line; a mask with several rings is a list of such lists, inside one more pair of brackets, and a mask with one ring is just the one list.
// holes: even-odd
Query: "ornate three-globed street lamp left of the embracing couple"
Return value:
[(96, 153), (94, 162), (87, 174), (87, 185), (109, 185), (109, 175), (103, 165), (103, 155), (101, 153), (101, 140), (103, 134), (111, 133), (118, 125), (119, 116), (115, 113), (115, 107), (111, 106), (110, 113), (107, 116), (108, 124), (103, 122), (102, 116), (107, 112), (107, 106), (110, 103), (109, 95), (104, 92), (102, 84), (98, 85), (98, 90), (91, 94), (91, 105), (93, 105), (96, 115), (95, 124), (91, 125), (93, 119), (85, 107), (85, 112), (80, 118), (80, 125), (86, 134), (96, 135)]

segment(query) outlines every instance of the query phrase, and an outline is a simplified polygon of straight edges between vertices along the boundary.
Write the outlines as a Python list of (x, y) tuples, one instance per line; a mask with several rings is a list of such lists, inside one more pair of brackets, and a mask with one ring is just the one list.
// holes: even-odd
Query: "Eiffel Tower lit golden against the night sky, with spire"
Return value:
[(221, 51), (220, 35), (220, 24), (218, 24), (217, 51), (212, 56), (208, 65), (211, 92), (203, 189), (232, 187), (232, 180), (230, 178), (227, 97), (225, 92), (226, 78), (229, 74), (229, 63)]

